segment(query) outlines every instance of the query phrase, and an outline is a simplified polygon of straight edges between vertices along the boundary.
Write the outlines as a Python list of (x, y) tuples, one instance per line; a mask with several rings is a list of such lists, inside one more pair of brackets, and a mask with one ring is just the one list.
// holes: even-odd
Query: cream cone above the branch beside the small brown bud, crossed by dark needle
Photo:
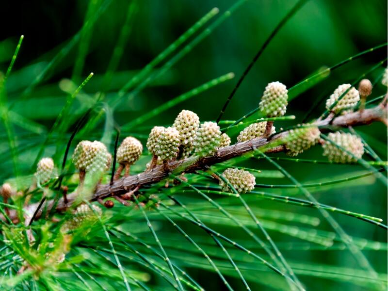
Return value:
[[(351, 86), (351, 84), (339, 85), (338, 88), (334, 90), (334, 93), (326, 100), (326, 109), (334, 113), (339, 113), (341, 110), (352, 109), (355, 107), (360, 100), (360, 95), (356, 88)], [(337, 102), (337, 104), (333, 108), (330, 108), (349, 88), (351, 89)]]

